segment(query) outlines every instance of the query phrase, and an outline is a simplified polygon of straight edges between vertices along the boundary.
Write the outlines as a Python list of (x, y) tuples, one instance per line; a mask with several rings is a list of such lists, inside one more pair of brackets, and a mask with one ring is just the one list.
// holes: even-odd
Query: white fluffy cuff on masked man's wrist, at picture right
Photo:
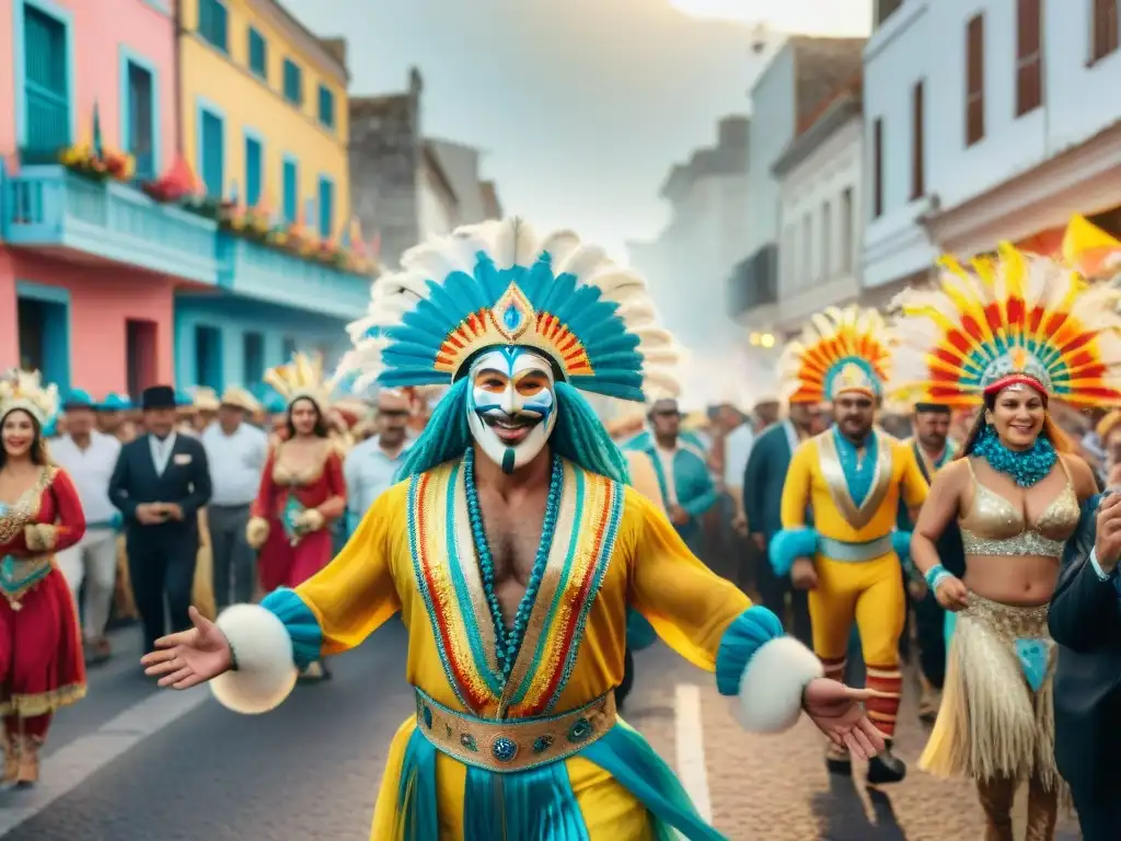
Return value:
[(789, 730), (802, 715), (802, 693), (824, 676), (822, 662), (794, 637), (776, 637), (759, 647), (740, 677), (736, 718), (754, 733)]

